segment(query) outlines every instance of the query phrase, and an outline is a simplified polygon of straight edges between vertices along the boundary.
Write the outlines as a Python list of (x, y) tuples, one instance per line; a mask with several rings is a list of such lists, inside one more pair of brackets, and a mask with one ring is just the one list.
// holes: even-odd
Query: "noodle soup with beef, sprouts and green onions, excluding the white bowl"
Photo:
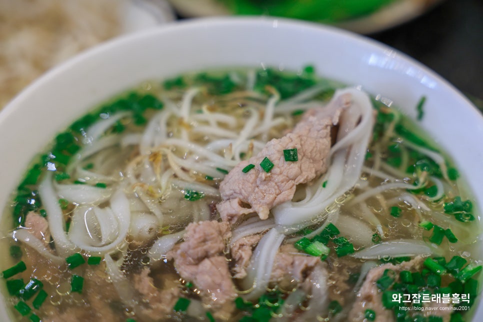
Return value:
[(310, 66), (147, 81), (102, 104), (5, 209), (13, 318), (469, 318), (479, 217), (391, 105)]

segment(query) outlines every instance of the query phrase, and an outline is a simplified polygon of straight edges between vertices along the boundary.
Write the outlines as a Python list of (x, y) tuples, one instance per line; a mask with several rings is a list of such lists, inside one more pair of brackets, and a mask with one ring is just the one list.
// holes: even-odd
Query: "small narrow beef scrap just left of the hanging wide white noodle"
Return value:
[(232, 267), (231, 272), (234, 278), (243, 278), (246, 276), (246, 267), (250, 263), (253, 249), (258, 241), (260, 241), (262, 234), (254, 234), (242, 237), (236, 240), (231, 245)]

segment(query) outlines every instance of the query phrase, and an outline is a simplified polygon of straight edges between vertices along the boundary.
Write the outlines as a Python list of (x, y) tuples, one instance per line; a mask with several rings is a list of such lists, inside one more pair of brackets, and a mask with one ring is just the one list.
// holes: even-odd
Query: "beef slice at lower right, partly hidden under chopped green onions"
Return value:
[[(402, 270), (418, 271), (421, 269), (424, 258), (416, 256), (410, 261), (404, 261), (398, 265), (384, 264), (374, 267), (367, 273), (365, 280), (357, 293), (355, 303), (349, 312), (350, 321), (361, 321), (364, 319), (365, 310), (370, 308), (374, 310), (376, 318), (375, 321), (388, 322), (394, 321), (394, 313), (390, 309), (386, 309), (382, 305), (381, 292), (376, 285), (376, 281), (382, 276), (384, 270), (391, 269), (396, 274), (396, 281), (398, 280), (399, 272)], [(401, 304), (402, 305), (402, 304)], [(449, 305), (449, 304), (448, 304)], [(449, 321), (451, 310), (435, 310), (431, 311), (432, 315), (442, 316), (444, 321)]]

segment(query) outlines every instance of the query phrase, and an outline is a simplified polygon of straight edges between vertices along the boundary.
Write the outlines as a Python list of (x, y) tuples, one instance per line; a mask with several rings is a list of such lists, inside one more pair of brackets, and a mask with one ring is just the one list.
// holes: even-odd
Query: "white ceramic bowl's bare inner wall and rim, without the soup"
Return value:
[[(316, 71), (389, 97), (454, 159), (483, 205), (483, 118), (460, 92), (409, 57), (352, 33), (273, 18), (214, 18), (167, 24), (91, 49), (46, 73), (0, 113), (0, 209), (32, 157), (56, 132), (111, 95), (142, 80), (220, 66)], [(3, 283), (1, 285), (3, 287)], [(3, 302), (0, 320), (7, 320)], [(483, 307), (475, 320), (483, 320)]]

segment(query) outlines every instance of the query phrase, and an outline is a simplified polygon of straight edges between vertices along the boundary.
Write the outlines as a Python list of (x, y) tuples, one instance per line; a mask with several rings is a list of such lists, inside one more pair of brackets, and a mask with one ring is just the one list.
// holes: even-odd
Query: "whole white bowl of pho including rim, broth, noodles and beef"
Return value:
[(364, 37), (146, 30), (43, 75), (0, 137), (1, 320), (483, 317), (483, 118)]

